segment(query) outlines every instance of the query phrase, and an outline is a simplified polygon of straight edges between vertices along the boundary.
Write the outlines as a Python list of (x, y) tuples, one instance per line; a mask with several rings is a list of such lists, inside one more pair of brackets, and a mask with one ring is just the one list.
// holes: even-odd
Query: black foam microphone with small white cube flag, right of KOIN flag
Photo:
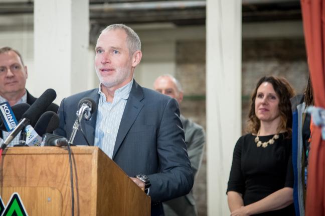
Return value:
[(51, 133), (59, 127), (59, 116), (54, 111), (44, 112), (33, 127), (26, 128), (27, 140), (26, 144), (39, 146), (41, 145), (44, 133)]

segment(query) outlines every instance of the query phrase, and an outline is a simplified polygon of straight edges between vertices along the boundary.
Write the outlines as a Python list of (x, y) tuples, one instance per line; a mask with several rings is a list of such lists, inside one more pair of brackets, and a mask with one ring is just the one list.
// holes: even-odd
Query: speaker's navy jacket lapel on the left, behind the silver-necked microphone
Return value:
[[(98, 88), (96, 88), (94, 91), (92, 91), (89, 95), (90, 98), (95, 100), (97, 103), (98, 107), (98, 102), (99, 102), (99, 93), (98, 93)], [(89, 141), (90, 145), (94, 145), (94, 139), (95, 139), (95, 128), (96, 128), (96, 120), (97, 120), (97, 108), (95, 109), (94, 113), (91, 115), (90, 120), (85, 120), (85, 130), (87, 134), (87, 139)], [(81, 131), (80, 131), (81, 132)]]

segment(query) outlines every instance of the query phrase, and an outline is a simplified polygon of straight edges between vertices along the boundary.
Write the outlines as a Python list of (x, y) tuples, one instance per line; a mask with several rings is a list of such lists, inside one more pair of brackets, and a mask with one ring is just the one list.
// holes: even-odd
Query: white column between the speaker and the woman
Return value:
[(226, 188), (241, 135), (241, 1), (207, 0), (208, 215), (229, 215)]

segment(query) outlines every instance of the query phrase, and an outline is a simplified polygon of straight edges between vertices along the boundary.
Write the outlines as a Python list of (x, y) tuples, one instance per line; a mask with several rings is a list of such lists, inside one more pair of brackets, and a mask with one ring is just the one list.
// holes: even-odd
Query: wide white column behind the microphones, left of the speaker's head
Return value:
[(89, 1), (34, 0), (34, 71), (29, 89), (39, 96), (47, 88), (63, 97), (88, 89)]

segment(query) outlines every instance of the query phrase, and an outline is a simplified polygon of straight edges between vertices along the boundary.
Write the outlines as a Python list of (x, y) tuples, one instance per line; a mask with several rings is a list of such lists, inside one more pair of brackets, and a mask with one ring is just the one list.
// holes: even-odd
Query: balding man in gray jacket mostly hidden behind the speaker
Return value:
[[(161, 75), (156, 78), (153, 83), (153, 88), (162, 94), (175, 98), (179, 103), (183, 100), (182, 86), (180, 82), (170, 74)], [(204, 129), (199, 124), (185, 118), (182, 114), (180, 118), (184, 127), (185, 143), (187, 145), (192, 171), (194, 176), (196, 176), (203, 157), (205, 143)], [(163, 205), (166, 216), (198, 215), (193, 197), (193, 190), (184, 196), (166, 201)]]

